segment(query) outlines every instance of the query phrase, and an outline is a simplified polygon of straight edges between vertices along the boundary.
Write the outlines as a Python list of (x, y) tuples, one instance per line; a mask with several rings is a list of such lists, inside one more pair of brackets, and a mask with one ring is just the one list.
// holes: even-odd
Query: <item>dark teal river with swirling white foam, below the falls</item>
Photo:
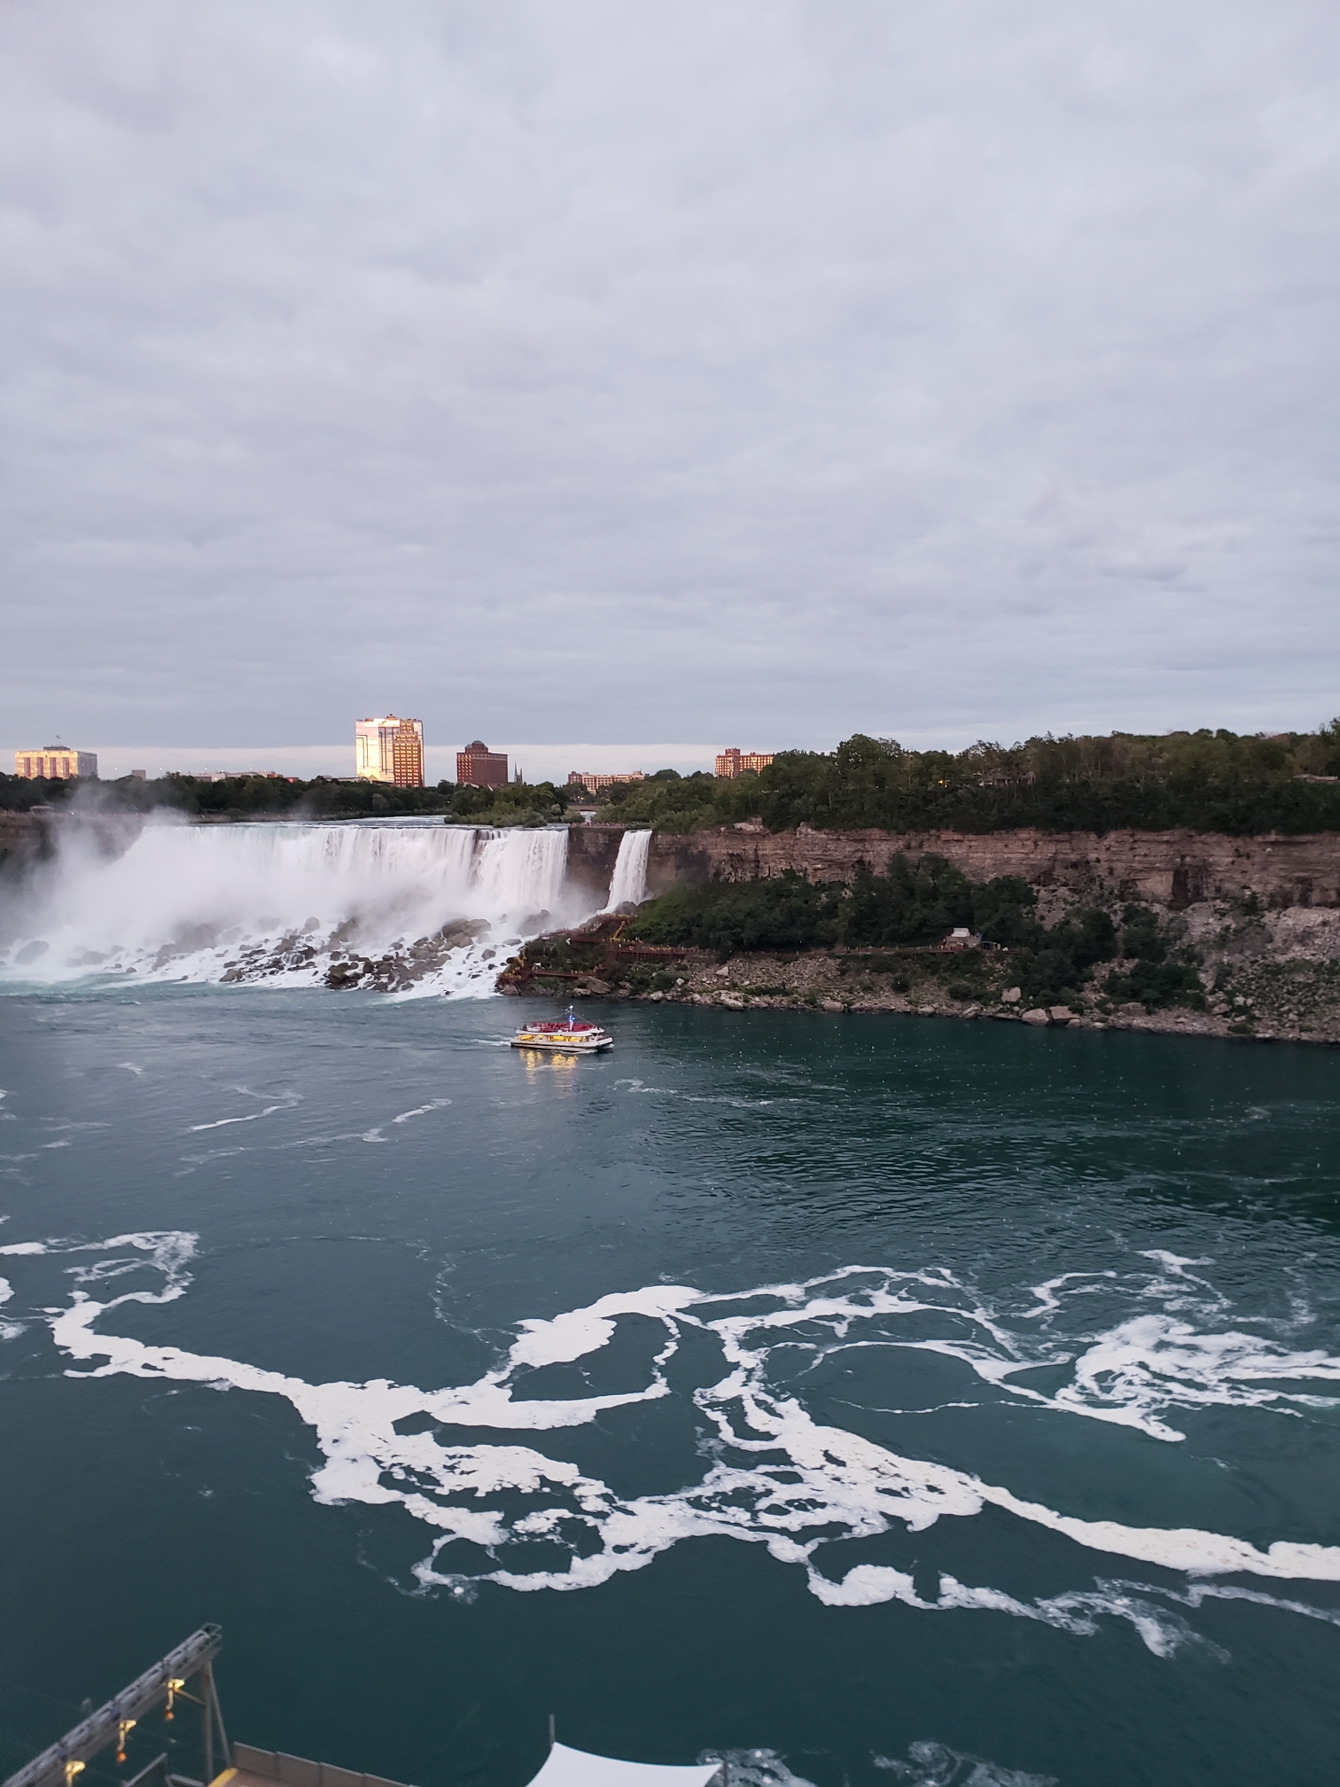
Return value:
[(416, 1787), (1340, 1778), (1333, 1053), (515, 1019), (0, 999), (0, 1774), (214, 1619)]

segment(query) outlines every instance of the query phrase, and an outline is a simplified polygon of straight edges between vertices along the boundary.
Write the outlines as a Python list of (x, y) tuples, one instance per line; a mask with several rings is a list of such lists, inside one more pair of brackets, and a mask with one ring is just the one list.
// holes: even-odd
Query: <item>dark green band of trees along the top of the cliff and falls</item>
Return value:
[[(173, 808), (200, 818), (441, 815), (495, 826), (574, 820), (579, 802), (590, 806), (586, 790), (554, 783), (391, 788), (270, 776), (91, 784), (0, 777), (0, 808), (11, 811), (71, 797), (82, 808)], [(679, 835), (750, 822), (772, 833), (1340, 831), (1340, 718), (1315, 733), (1270, 738), (1220, 727), (979, 742), (959, 752), (908, 751), (858, 733), (836, 751), (783, 751), (759, 774), (734, 779), (656, 770), (641, 783), (604, 790), (599, 801), (599, 818)]]

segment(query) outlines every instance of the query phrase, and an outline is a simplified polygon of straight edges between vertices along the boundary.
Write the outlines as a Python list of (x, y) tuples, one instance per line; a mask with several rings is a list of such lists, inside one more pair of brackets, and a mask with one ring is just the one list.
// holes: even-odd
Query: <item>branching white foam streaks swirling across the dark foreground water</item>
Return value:
[[(409, 1113), (407, 1113), (409, 1115)], [(415, 1113), (418, 1115), (418, 1113)], [(1118, 1324), (1117, 1338), (1081, 1337), (1067, 1351), (1040, 1342), (1006, 1317), (984, 1308), (954, 1274), (945, 1271), (895, 1272), (847, 1267), (824, 1278), (786, 1285), (763, 1285), (729, 1297), (709, 1296), (686, 1285), (647, 1285), (613, 1292), (597, 1303), (549, 1319), (522, 1321), (516, 1338), (498, 1363), (466, 1385), (423, 1390), (388, 1380), (366, 1383), (307, 1383), (302, 1378), (264, 1371), (245, 1362), (198, 1355), (182, 1347), (150, 1346), (107, 1331), (107, 1319), (130, 1303), (166, 1303), (184, 1296), (195, 1237), (180, 1231), (118, 1235), (107, 1242), (20, 1242), (0, 1254), (23, 1256), (66, 1253), (75, 1279), (63, 1308), (39, 1313), (50, 1322), (57, 1347), (86, 1367), (80, 1376), (132, 1374), (139, 1378), (202, 1383), (250, 1394), (279, 1396), (313, 1428), (322, 1465), (313, 1472), (318, 1503), (400, 1506), (431, 1533), (429, 1555), (415, 1576), (425, 1589), (441, 1587), (470, 1598), (490, 1581), (513, 1590), (577, 1590), (615, 1574), (641, 1569), (661, 1551), (695, 1537), (733, 1537), (761, 1544), (781, 1564), (800, 1567), (809, 1590), (829, 1607), (868, 1607), (899, 1601), (925, 1612), (984, 1610), (1038, 1621), (1056, 1630), (1088, 1635), (1097, 1621), (1120, 1619), (1160, 1657), (1188, 1648), (1220, 1655), (1199, 1639), (1168, 1599), (1193, 1608), (1193, 1596), (1222, 1592), (1256, 1599), (1283, 1610), (1329, 1619), (1324, 1610), (1277, 1599), (1261, 1590), (1204, 1587), (1206, 1578), (1256, 1576), (1279, 1581), (1340, 1581), (1340, 1546), (1281, 1537), (1269, 1546), (1199, 1528), (1133, 1526), (1120, 1521), (1079, 1519), (1011, 1489), (988, 1483), (968, 1471), (924, 1458), (900, 1456), (845, 1428), (817, 1421), (797, 1394), (806, 1355), (813, 1369), (850, 1346), (933, 1349), (972, 1365), (1002, 1397), (1022, 1396), (1065, 1419), (1108, 1419), (1093, 1406), (1106, 1396), (1122, 1405), (1122, 1424), (1140, 1426), (1151, 1439), (1172, 1442), (1177, 1435), (1161, 1421), (1160, 1405), (1276, 1406), (1297, 1399), (1292, 1385), (1320, 1378), (1331, 1381), (1336, 1360), (1320, 1349), (1288, 1353), (1285, 1342), (1267, 1344), (1240, 1330), (1186, 1338), (1185, 1317), (1167, 1317), (1174, 1340), (1152, 1347), (1158, 1371), (1127, 1376), (1115, 1388), (1104, 1387), (1085, 1369), (1099, 1355), (1127, 1358), (1129, 1328)], [(100, 1299), (96, 1288), (152, 1265), (157, 1288), (125, 1288)], [(1113, 1296), (1149, 1297), (1151, 1274), (1117, 1274)], [(1085, 1296), (1085, 1281), (1052, 1281), (1056, 1305)], [(1208, 1303), (1217, 1303), (1213, 1292)], [(1085, 1308), (1083, 1303), (1076, 1305)], [(1029, 1315), (1029, 1312), (1022, 1312)], [(1036, 1313), (1036, 1312), (1033, 1312)], [(611, 1344), (625, 1317), (661, 1326), (638, 1388), (616, 1394), (534, 1397), (527, 1394), (531, 1372), (591, 1360)], [(900, 1333), (915, 1317), (915, 1335)], [(940, 1340), (927, 1338), (927, 1319), (943, 1328)], [(1154, 1317), (1142, 1317), (1154, 1321)], [(665, 1494), (620, 1496), (566, 1458), (549, 1456), (538, 1444), (545, 1431), (582, 1428), (616, 1408), (683, 1396), (672, 1388), (672, 1362), (688, 1331), (711, 1337), (720, 1363), (691, 1387), (700, 1442), (708, 1460), (699, 1480)], [(1151, 1347), (1145, 1347), (1149, 1353)], [(774, 1360), (774, 1355), (781, 1356)], [(1143, 1355), (1142, 1355), (1143, 1356)], [(1038, 1363), (1076, 1362), (1076, 1385), (1054, 1396), (1017, 1388), (1011, 1374)], [(788, 1387), (779, 1388), (775, 1372)], [(677, 1369), (683, 1369), (677, 1367)], [(1186, 1385), (1172, 1372), (1190, 1372)], [(1265, 1371), (1260, 1394), (1245, 1380)], [(1127, 1406), (1136, 1380), (1143, 1385), (1142, 1421)], [(423, 1430), (397, 1431), (415, 1417)], [(450, 1430), (470, 1430), (472, 1439), (454, 1444)], [(506, 1435), (479, 1442), (477, 1431)], [(525, 1435), (525, 1439), (522, 1439)], [(1097, 1581), (1056, 1596), (1022, 1599), (990, 1585), (958, 1581), (942, 1574), (933, 1598), (918, 1592), (911, 1574), (858, 1564), (842, 1571), (842, 1540), (872, 1539), (895, 1528), (924, 1531), (942, 1519), (972, 1519), (993, 1506), (1034, 1528), (1058, 1533), (1076, 1546), (1108, 1556), (1160, 1565), (1192, 1578), (1185, 1594), (1140, 1583)], [(556, 1551), (552, 1567), (536, 1565), (532, 1548), (547, 1540)], [(475, 1548), (477, 1556), (459, 1555)], [(457, 1549), (454, 1549), (457, 1548)], [(516, 1555), (515, 1564), (511, 1553)], [(1340, 1615), (1336, 1615), (1340, 1621)]]

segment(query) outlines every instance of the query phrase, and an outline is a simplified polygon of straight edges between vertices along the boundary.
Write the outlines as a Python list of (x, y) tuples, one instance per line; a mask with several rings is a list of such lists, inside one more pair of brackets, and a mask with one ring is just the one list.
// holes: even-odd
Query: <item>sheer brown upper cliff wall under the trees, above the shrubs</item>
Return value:
[[(575, 856), (618, 849), (616, 826), (574, 829)], [(1340, 833), (1227, 838), (1195, 831), (752, 831), (722, 827), (686, 836), (657, 833), (649, 892), (677, 881), (750, 881), (795, 868), (811, 881), (850, 881), (861, 867), (883, 872), (897, 852), (947, 858), (974, 881), (1022, 876), (1036, 888), (1079, 899), (1152, 901), (1172, 911), (1254, 894), (1267, 906), (1340, 906)], [(607, 885), (607, 876), (606, 876)]]

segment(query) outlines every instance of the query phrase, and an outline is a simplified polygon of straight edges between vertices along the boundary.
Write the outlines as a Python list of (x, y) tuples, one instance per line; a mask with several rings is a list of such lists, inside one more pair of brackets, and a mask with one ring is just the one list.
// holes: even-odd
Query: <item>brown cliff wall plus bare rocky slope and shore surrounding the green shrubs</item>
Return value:
[[(618, 826), (574, 829), (570, 865), (591, 885), (609, 885)], [(1029, 1022), (1192, 1035), (1340, 1042), (1340, 835), (1227, 838), (1193, 831), (1095, 833), (908, 833), (783, 831), (722, 827), (688, 836), (657, 833), (649, 860), (649, 892), (720, 876), (750, 881), (788, 868), (811, 881), (850, 881), (863, 868), (884, 870), (890, 856), (947, 858), (974, 881), (1020, 876), (1042, 892), (1040, 913), (1054, 922), (1067, 906), (1093, 902), (1117, 917), (1126, 901), (1160, 913), (1170, 944), (1190, 945), (1201, 963), (1204, 997), (1195, 1010), (1145, 1010), (1104, 997), (1104, 963), (1074, 1008), (1027, 1013)], [(867, 952), (870, 954), (870, 952)], [(1011, 1004), (1009, 954), (983, 958), (981, 974), (931, 972), (911, 956), (890, 977), (856, 956), (809, 951), (799, 956), (741, 956), (727, 967), (684, 956), (674, 974), (629, 986), (636, 997), (695, 1004), (820, 1006), (827, 1011), (909, 1011), (954, 1017), (1024, 1017)], [(997, 985), (999, 983), (999, 985)], [(604, 988), (602, 988), (604, 990)], [(620, 992), (616, 990), (616, 995)], [(1017, 997), (1017, 994), (1015, 994)]]

